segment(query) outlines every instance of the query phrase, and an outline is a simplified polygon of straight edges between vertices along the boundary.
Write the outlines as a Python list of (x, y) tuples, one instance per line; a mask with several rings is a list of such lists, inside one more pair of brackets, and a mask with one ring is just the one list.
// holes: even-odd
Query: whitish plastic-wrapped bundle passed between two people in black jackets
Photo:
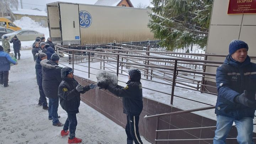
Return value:
[[(98, 73), (96, 74), (96, 78), (98, 80), (97, 84), (105, 83), (110, 86), (117, 86), (117, 84), (118, 84), (117, 75), (112, 74), (106, 70), (98, 71)], [(102, 89), (102, 88), (104, 88), (104, 87), (99, 87), (99, 89)]]

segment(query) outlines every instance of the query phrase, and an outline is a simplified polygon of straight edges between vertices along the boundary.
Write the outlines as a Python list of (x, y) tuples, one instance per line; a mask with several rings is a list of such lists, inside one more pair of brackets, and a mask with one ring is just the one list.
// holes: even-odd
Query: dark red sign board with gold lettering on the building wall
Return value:
[(256, 14), (256, 0), (229, 0), (228, 14)]

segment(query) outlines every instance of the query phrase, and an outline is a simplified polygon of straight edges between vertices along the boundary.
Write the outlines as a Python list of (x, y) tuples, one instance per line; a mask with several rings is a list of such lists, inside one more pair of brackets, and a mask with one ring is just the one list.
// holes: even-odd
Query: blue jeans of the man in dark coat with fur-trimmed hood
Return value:
[(53, 124), (59, 122), (58, 119), (58, 107), (59, 107), (59, 97), (58, 98), (49, 98), (49, 118), (53, 119)]

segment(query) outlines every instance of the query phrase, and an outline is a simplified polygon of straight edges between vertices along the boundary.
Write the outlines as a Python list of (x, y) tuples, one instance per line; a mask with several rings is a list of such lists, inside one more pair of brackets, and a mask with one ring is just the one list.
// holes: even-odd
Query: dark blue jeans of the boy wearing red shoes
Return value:
[(76, 126), (77, 126), (76, 113), (68, 113), (68, 118), (66, 119), (63, 130), (69, 129), (69, 139), (75, 138)]

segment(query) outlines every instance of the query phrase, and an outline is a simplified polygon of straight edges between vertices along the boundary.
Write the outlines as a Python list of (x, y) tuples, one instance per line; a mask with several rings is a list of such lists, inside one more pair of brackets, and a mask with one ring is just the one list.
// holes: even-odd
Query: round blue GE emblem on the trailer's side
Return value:
[(82, 28), (87, 28), (92, 23), (92, 17), (89, 12), (87, 11), (80, 11), (79, 12), (79, 24)]

